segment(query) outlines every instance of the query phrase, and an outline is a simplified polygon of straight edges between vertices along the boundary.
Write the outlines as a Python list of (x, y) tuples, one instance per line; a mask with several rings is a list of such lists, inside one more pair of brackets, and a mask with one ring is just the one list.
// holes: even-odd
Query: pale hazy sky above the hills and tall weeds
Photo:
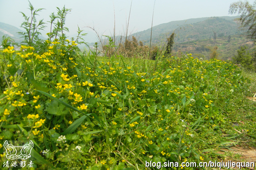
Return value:
[[(124, 34), (131, 14), (128, 34), (146, 30), (151, 27), (155, 2), (153, 26), (175, 20), (213, 16), (236, 16), (229, 14), (229, 6), (238, 0), (30, 0), (35, 9), (45, 8), (39, 12), (39, 19), (49, 20), (50, 13), (56, 13), (56, 7), (72, 9), (67, 15), (66, 26), (71, 33), (80, 28), (94, 27), (99, 34)], [(254, 0), (248, 0), (251, 4)], [(23, 21), (20, 12), (29, 15), (27, 0), (0, 0), (0, 22), (20, 28)], [(46, 29), (49, 32), (49, 29)]]

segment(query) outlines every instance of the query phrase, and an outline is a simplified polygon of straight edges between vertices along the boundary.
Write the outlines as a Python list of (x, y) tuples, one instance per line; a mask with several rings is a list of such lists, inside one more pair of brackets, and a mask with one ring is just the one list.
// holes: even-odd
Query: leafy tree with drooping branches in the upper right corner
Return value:
[(256, 0), (253, 5), (248, 1), (234, 2), (229, 7), (229, 13), (238, 13), (240, 16), (241, 24), (247, 29), (251, 39), (256, 41)]

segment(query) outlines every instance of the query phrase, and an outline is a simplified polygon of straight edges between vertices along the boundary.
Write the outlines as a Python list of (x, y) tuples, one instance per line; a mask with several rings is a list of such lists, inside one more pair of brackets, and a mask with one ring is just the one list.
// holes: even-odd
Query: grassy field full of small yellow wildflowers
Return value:
[(0, 137), (33, 141), (36, 169), (156, 169), (146, 161), (236, 161), (220, 152), (256, 147), (247, 99), (255, 74), (193, 54), (153, 61), (75, 50), (54, 40), (44, 51), (1, 51)]

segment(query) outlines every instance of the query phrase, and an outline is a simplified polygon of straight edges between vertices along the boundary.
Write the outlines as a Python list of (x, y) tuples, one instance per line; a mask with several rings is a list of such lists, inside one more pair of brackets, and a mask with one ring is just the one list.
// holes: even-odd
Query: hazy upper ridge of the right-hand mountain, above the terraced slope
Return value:
[[(243, 33), (239, 30), (239, 23), (235, 17), (204, 17), (188, 20), (171, 21), (168, 23), (153, 26), (152, 40), (153, 43), (166, 41), (166, 38), (175, 30), (175, 43), (182, 43), (191, 40), (209, 39), (213, 37), (215, 31), (217, 35), (229, 36)], [(150, 41), (151, 28), (145, 31), (134, 33), (139, 41), (146, 44)]]

